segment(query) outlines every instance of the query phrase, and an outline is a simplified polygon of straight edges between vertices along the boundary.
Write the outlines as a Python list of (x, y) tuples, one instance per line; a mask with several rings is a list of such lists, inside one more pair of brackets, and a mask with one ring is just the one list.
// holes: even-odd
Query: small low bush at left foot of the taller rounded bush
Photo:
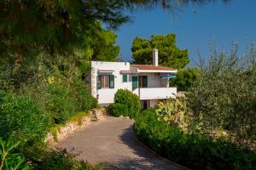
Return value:
[(129, 116), (127, 106), (119, 103), (108, 105), (108, 113), (113, 116)]

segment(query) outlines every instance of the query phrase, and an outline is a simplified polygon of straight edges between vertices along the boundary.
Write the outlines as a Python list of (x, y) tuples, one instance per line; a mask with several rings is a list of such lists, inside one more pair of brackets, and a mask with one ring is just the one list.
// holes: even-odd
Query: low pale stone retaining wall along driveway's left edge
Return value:
[(47, 133), (44, 141), (55, 144), (61, 139), (67, 138), (68, 135), (87, 127), (92, 121), (101, 121), (106, 115), (104, 108), (95, 109), (89, 112), (89, 116), (82, 117), (80, 122), (67, 122), (65, 125), (55, 127), (54, 130)]

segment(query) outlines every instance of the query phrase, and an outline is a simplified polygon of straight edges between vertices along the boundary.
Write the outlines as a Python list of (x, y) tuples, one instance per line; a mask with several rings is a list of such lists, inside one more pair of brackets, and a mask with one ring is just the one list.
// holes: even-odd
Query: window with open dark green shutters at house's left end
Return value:
[(114, 88), (114, 76), (113, 75), (98, 75), (97, 89), (101, 89), (101, 88)]

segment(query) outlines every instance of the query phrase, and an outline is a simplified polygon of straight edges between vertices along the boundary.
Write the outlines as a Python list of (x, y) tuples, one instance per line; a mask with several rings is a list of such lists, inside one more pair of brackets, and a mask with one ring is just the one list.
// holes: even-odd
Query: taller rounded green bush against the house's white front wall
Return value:
[(130, 117), (136, 117), (141, 110), (139, 97), (127, 89), (119, 89), (114, 94), (114, 103), (125, 105)]

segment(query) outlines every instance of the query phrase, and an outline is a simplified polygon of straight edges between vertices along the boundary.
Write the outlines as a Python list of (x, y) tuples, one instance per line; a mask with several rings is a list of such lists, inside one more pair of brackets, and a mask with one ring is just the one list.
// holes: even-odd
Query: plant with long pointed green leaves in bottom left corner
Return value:
[(16, 152), (20, 143), (15, 143), (13, 139), (3, 140), (0, 138), (0, 170), (29, 170), (24, 156)]

